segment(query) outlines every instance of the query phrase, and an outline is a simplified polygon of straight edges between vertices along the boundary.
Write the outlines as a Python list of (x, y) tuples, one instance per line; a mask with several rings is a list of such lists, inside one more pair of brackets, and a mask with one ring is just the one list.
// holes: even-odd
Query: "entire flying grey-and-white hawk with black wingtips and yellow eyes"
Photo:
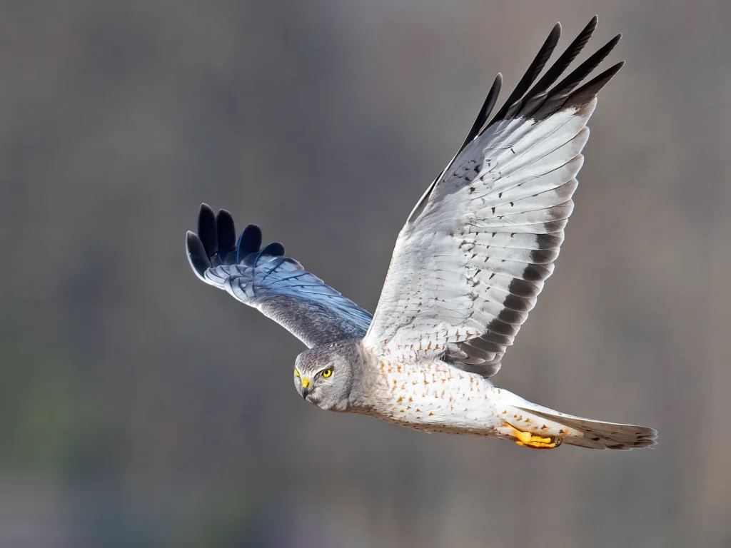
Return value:
[(197, 233), (186, 235), (194, 273), (307, 346), (292, 373), (300, 397), (329, 411), (531, 449), (656, 444), (652, 428), (564, 414), (491, 381), (553, 273), (588, 120), (597, 94), (624, 65), (586, 80), (618, 34), (558, 81), (596, 24), (594, 16), (539, 78), (561, 37), (556, 23), (491, 117), (498, 73), (461, 147), (399, 232), (373, 315), (281, 243), (262, 247), (257, 225), (237, 238), (227, 210), (201, 205)]

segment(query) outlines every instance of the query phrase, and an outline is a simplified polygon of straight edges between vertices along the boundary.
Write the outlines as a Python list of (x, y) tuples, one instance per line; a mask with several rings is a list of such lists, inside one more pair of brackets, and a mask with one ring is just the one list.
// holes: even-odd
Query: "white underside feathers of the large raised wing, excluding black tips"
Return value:
[(466, 147), (401, 230), (366, 346), (433, 359), (493, 322), (499, 359), (553, 273), (595, 105), (496, 123), (479, 170)]

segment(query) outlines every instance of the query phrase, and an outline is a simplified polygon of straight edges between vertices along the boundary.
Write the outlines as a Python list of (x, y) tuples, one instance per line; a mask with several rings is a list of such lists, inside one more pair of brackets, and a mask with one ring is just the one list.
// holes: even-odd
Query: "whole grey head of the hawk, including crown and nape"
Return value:
[(344, 340), (304, 351), (295, 361), (295, 388), (310, 403), (346, 411), (362, 368), (359, 341)]

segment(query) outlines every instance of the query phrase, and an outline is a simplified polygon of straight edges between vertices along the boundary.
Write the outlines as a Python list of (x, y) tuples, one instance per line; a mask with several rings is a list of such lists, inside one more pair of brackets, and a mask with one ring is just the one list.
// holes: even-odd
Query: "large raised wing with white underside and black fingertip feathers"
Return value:
[(596, 94), (623, 64), (581, 85), (617, 36), (554, 85), (595, 28), (596, 17), (533, 84), (561, 35), (556, 24), (485, 125), (498, 75), (464, 144), (398, 235), (366, 346), (401, 359), (441, 357), (483, 376), (499, 370), (553, 273)]

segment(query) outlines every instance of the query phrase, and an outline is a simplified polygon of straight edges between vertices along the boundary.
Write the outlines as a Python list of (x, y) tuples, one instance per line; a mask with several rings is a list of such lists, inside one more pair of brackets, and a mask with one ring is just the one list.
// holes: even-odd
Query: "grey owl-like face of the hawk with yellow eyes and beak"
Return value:
[(306, 401), (326, 410), (345, 411), (352, 385), (352, 367), (344, 357), (308, 350), (298, 356), (295, 388)]

